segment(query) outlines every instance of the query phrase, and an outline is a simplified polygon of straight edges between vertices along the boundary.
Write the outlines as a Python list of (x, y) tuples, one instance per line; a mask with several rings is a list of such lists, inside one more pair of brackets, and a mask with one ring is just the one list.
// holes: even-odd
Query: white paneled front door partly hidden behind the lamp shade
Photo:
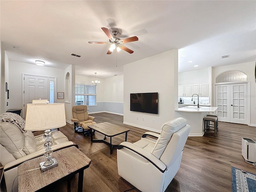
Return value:
[(26, 116), (28, 103), (33, 99), (48, 99), (48, 77), (36, 75), (24, 75), (24, 105), (22, 116)]

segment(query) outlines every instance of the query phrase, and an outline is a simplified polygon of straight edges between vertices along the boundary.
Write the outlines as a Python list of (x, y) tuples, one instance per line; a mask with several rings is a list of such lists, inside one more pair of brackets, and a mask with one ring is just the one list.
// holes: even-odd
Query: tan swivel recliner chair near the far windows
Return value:
[(73, 106), (72, 116), (71, 121), (74, 122), (74, 131), (83, 132), (85, 136), (90, 136), (90, 128), (88, 128), (88, 125), (96, 124), (96, 122), (93, 121), (95, 117), (88, 115), (87, 106)]

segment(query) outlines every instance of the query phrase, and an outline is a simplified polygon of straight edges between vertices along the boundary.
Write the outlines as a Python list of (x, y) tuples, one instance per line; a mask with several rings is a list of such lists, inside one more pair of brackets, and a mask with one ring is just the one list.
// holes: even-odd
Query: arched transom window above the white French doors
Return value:
[(238, 70), (224, 71), (216, 77), (216, 83), (247, 81), (247, 75)]

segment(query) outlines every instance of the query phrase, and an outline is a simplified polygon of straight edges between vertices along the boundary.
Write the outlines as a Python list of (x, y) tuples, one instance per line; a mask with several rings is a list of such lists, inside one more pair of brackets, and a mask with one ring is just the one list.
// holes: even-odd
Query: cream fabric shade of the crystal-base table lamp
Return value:
[(49, 130), (65, 125), (64, 103), (27, 104), (25, 130)]

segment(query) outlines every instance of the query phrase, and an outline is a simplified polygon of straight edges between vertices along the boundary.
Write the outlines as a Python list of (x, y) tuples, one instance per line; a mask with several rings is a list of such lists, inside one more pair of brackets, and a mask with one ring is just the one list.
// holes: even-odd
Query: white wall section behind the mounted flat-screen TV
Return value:
[[(158, 114), (130, 111), (130, 93), (142, 92), (158, 92)], [(178, 108), (177, 100), (178, 50), (170, 50), (124, 66), (125, 124), (160, 132), (162, 124), (174, 118), (174, 110)]]

